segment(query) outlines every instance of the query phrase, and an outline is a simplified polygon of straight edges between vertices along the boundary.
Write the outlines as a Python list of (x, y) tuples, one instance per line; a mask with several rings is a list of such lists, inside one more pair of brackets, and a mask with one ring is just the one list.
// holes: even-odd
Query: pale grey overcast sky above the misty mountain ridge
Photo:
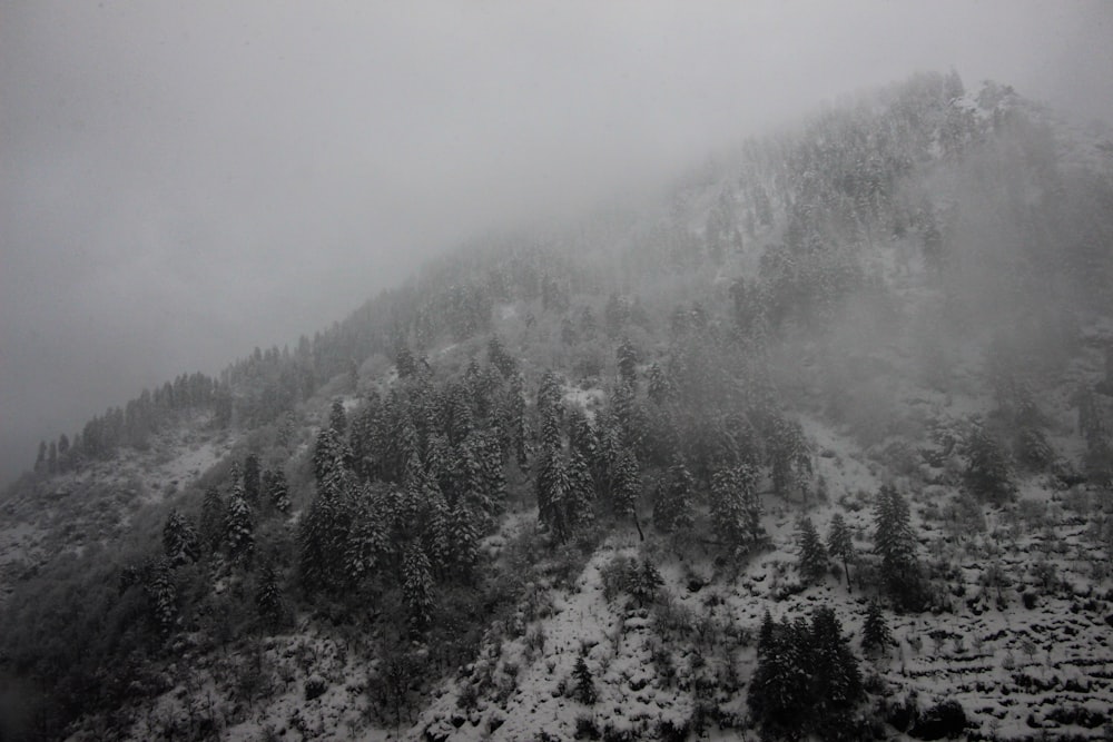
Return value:
[(954, 67), (1113, 121), (1113, 3), (0, 0), (0, 478), (840, 93)]

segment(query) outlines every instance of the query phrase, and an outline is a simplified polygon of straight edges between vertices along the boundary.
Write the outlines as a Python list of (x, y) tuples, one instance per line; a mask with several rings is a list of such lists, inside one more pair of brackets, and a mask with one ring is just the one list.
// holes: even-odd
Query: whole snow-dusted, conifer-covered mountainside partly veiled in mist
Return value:
[(463, 246), (43, 445), (0, 739), (1110, 739), (1110, 286), (954, 73)]

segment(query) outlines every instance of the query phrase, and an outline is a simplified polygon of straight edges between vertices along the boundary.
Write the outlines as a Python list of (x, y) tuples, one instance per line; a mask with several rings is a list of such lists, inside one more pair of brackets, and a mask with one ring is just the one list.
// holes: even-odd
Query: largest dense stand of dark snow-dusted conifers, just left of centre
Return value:
[(472, 578), (505, 506), (505, 467), (530, 443), (522, 378), (498, 340), (490, 349), (492, 364), (440, 384), (400, 352), (406, 373), (385, 398), (373, 393), (351, 416), (334, 404), (299, 537), (307, 592), (400, 590), (420, 630), (439, 584)]

